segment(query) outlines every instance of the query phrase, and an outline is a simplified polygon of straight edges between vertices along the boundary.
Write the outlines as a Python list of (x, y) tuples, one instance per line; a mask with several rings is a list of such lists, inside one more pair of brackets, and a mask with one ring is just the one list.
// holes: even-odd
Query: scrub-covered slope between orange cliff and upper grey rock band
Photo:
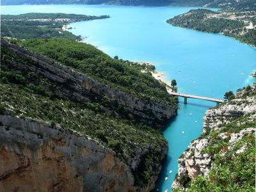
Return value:
[[(136, 156), (136, 149), (150, 146), (140, 170), (134, 170), (134, 177), (136, 184), (144, 185), (156, 175), (156, 167), (152, 164), (160, 163), (161, 148), (166, 146), (160, 131), (137, 123), (132, 114), (122, 111), (122, 106), (108, 97), (90, 102), (61, 99), (55, 94), (56, 90), (67, 87), (67, 83), (57, 83), (36, 72), (15, 68), (11, 64), (13, 61), (26, 65), (31, 60), (21, 58), (5, 47), (1, 47), (1, 55), (4, 58), (1, 60), (0, 114), (6, 113), (7, 109), (12, 116), (40, 119), (79, 131), (113, 149), (124, 163)], [(129, 119), (118, 113), (127, 113)]]

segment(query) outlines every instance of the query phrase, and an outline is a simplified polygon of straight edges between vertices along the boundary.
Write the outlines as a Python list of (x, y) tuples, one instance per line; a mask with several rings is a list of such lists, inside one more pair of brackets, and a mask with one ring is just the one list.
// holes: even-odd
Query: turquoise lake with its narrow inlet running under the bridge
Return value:
[[(1, 6), (2, 14), (13, 15), (29, 12), (110, 15), (110, 19), (70, 24), (73, 28), (70, 31), (87, 37), (84, 42), (112, 57), (118, 55), (124, 60), (154, 63), (157, 71), (166, 74), (166, 79), (177, 80), (181, 93), (223, 99), (225, 92), (236, 92), (237, 88), (256, 82), (250, 76), (256, 70), (254, 47), (227, 36), (177, 28), (165, 22), (191, 9), (104, 5)], [(192, 140), (200, 136), (205, 111), (216, 106), (214, 102), (204, 100), (188, 99), (188, 104), (179, 100), (179, 115), (164, 129), (169, 149), (156, 186), (159, 191), (172, 191), (178, 157)]]

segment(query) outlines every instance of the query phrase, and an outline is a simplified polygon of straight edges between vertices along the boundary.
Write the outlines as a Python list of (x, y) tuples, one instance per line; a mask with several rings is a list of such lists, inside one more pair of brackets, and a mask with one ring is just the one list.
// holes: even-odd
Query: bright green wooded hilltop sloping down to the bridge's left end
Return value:
[(154, 97), (177, 106), (164, 85), (149, 72), (141, 73), (131, 62), (110, 58), (92, 45), (64, 39), (32, 39), (19, 44), (136, 97)]

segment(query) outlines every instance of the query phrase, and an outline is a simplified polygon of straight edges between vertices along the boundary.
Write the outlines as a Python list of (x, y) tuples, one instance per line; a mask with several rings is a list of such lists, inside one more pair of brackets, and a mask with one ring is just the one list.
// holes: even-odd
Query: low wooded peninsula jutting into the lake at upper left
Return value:
[(21, 15), (1, 15), (1, 36), (19, 39), (29, 38), (68, 38), (81, 40), (62, 28), (70, 22), (81, 20), (104, 19), (108, 15), (87, 16), (64, 13), (26, 13)]

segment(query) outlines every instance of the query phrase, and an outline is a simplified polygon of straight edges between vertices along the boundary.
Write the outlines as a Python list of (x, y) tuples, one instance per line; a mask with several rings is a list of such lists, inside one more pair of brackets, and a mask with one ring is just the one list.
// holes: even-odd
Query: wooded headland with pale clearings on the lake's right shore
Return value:
[[(237, 19), (232, 19), (236, 17)], [(252, 12), (212, 12), (211, 10), (198, 9), (173, 17), (167, 20), (173, 26), (195, 29), (208, 33), (222, 33), (241, 40), (246, 44), (256, 46), (256, 29), (247, 29), (253, 23), (256, 14)]]

